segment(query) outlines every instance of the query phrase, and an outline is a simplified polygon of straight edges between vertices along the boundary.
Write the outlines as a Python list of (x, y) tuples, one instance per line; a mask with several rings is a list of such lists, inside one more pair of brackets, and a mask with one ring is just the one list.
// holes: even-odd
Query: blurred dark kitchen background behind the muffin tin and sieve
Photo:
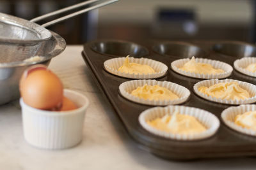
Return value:
[[(79, 2), (82, 1), (0, 0), (0, 11), (30, 20)], [(120, 0), (47, 29), (60, 34), (68, 44), (97, 38), (228, 39), (255, 43), (255, 10), (253, 0)]]

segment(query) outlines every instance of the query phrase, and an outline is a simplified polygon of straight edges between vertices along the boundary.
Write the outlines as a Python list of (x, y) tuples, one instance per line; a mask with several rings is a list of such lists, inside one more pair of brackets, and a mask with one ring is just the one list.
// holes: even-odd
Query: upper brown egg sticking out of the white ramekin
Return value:
[(20, 79), (20, 95), (33, 108), (51, 110), (61, 106), (61, 80), (44, 65), (35, 65), (24, 71)]

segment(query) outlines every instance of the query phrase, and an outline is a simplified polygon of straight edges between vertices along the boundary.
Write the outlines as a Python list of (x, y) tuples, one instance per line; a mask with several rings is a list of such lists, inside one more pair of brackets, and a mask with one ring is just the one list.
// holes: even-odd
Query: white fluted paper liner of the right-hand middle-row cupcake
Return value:
[[(236, 81), (240, 87), (242, 87), (244, 90), (247, 90), (247, 92), (250, 94), (249, 99), (244, 99), (244, 100), (227, 100), (227, 99), (219, 99), (216, 97), (212, 96), (207, 96), (207, 94), (204, 94), (198, 90), (199, 87), (210, 87), (214, 84), (217, 83), (228, 83), (230, 81)], [(232, 79), (225, 79), (225, 80), (218, 80), (218, 79), (212, 79), (212, 80), (204, 80), (204, 81), (199, 81), (196, 83), (193, 87), (195, 93), (203, 97), (204, 99), (207, 99), (209, 101), (214, 101), (216, 103), (223, 103), (223, 104), (250, 104), (250, 103), (255, 103), (256, 101), (256, 85), (253, 85), (251, 83), (247, 83), (244, 81), (238, 81), (238, 80), (232, 80)]]

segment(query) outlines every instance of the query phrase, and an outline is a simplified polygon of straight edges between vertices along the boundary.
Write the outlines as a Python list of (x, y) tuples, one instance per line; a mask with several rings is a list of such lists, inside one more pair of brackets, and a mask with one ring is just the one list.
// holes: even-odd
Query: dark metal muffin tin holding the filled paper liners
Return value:
[[(193, 55), (220, 60), (233, 66), (236, 59), (255, 56), (255, 46), (240, 41), (148, 41), (138, 45), (137, 43), (112, 39), (86, 43), (82, 54), (93, 73), (93, 77), (97, 80), (100, 89), (113, 106), (127, 132), (148, 152), (165, 159), (175, 160), (256, 155), (256, 138), (230, 129), (221, 120), (221, 112), (230, 105), (214, 103), (197, 96), (193, 91), (193, 85), (202, 79), (182, 76), (175, 73), (170, 67), (173, 60), (192, 57)], [(153, 106), (134, 103), (122, 97), (118, 92), (118, 87), (121, 83), (131, 79), (115, 76), (103, 69), (105, 60), (126, 55), (147, 57), (166, 64), (168, 66), (167, 74), (156, 80), (171, 81), (189, 89), (191, 96), (186, 103), (180, 105), (200, 108), (216, 115), (221, 121), (218, 132), (207, 139), (177, 141), (156, 136), (143, 129), (138, 117), (142, 111)], [(256, 78), (241, 74), (235, 69), (228, 78), (256, 83)]]

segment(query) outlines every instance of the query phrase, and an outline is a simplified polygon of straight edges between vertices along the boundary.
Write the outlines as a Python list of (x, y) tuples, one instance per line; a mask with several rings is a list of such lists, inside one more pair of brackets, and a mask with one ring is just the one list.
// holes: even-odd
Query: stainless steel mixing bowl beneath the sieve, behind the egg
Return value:
[[(6, 48), (0, 53), (0, 104), (19, 99), (19, 80), (23, 71), (33, 64), (49, 65), (52, 57), (59, 55), (66, 48), (65, 39), (51, 32), (51, 39), (45, 40), (31, 50), (28, 45)], [(1, 47), (1, 45), (0, 45)], [(0, 48), (1, 49), (1, 48)], [(28, 50), (30, 49), (30, 50)], [(14, 51), (14, 52), (13, 52)], [(44, 57), (36, 62), (24, 62), (33, 56)]]

